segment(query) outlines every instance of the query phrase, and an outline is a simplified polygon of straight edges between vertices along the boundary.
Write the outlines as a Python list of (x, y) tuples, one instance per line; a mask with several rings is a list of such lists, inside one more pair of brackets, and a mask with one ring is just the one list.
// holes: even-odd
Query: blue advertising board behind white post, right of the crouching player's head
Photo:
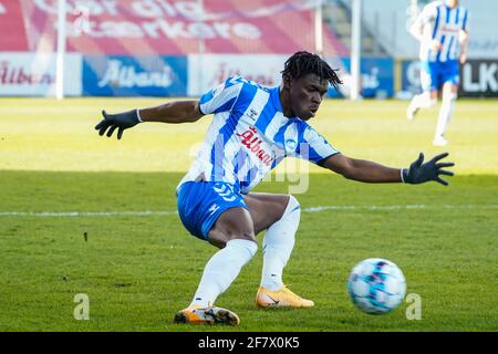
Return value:
[[(343, 58), (341, 63), (344, 70), (351, 70), (350, 58)], [(332, 65), (334, 69), (336, 66)], [(392, 58), (362, 58), (362, 92), (363, 97), (392, 97), (394, 94), (394, 60)], [(340, 73), (341, 76), (341, 73)], [(340, 97), (341, 94), (332, 87), (330, 97)]]

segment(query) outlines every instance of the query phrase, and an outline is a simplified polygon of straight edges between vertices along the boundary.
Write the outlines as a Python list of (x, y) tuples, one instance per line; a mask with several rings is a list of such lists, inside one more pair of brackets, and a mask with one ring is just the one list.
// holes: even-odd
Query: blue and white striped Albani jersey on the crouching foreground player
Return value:
[(247, 194), (287, 156), (319, 163), (338, 153), (308, 123), (283, 115), (279, 87), (234, 76), (203, 95), (199, 107), (214, 119), (178, 186), (203, 175)]

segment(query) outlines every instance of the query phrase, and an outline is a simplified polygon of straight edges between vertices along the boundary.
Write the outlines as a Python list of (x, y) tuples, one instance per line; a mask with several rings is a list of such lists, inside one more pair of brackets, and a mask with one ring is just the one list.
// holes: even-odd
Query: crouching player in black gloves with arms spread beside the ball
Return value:
[(314, 303), (289, 290), (282, 271), (294, 246), (301, 207), (290, 195), (250, 190), (286, 156), (305, 158), (364, 183), (447, 185), (452, 176), (438, 163), (424, 164), (423, 154), (409, 168), (391, 168), (338, 152), (308, 121), (315, 116), (329, 84), (341, 83), (319, 55), (297, 52), (284, 64), (282, 84), (267, 88), (241, 76), (229, 77), (199, 101), (176, 101), (157, 107), (108, 114), (95, 129), (111, 137), (141, 122), (187, 123), (214, 114), (206, 139), (189, 171), (177, 187), (178, 214), (185, 228), (219, 250), (207, 262), (200, 283), (179, 323), (238, 324), (230, 310), (215, 301), (257, 251), (256, 236), (264, 231), (263, 268), (256, 303), (262, 308), (310, 308)]

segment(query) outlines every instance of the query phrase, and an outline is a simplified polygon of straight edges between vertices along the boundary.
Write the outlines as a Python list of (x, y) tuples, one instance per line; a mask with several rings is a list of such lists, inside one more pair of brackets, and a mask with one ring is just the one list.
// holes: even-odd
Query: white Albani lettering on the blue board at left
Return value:
[(98, 87), (168, 87), (173, 83), (172, 67), (165, 64), (159, 72), (137, 72), (134, 65), (123, 65), (120, 60), (110, 60), (104, 79)]

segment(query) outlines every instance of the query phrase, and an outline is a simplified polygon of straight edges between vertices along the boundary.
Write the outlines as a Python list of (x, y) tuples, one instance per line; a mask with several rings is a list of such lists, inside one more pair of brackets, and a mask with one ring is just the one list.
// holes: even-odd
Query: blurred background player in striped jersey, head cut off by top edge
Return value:
[(409, 30), (421, 42), (423, 93), (413, 97), (407, 118), (413, 119), (419, 108), (435, 105), (438, 91), (443, 90), (435, 146), (448, 144), (445, 133), (458, 94), (458, 62), (467, 61), (468, 23), (469, 12), (458, 4), (458, 0), (438, 0), (425, 6)]

